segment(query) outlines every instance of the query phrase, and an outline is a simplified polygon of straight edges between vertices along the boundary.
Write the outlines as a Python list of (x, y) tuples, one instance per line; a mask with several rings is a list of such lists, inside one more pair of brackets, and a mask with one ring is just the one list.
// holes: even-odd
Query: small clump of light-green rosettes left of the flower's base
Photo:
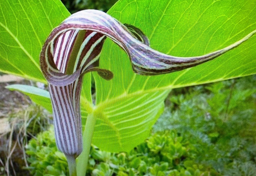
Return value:
[(53, 126), (29, 141), (26, 147), (28, 169), (33, 175), (68, 175), (65, 155), (58, 151)]

